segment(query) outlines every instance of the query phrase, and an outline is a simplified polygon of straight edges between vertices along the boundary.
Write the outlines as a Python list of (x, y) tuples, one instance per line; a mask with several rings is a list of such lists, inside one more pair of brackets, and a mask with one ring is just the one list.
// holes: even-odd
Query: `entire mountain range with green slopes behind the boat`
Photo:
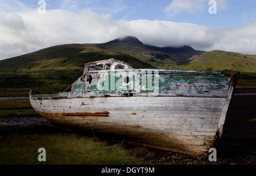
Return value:
[(241, 86), (256, 87), (256, 56), (196, 51), (189, 46), (155, 47), (133, 36), (101, 44), (64, 44), (0, 61), (0, 87), (68, 87), (86, 62), (115, 58), (138, 68), (241, 72)]

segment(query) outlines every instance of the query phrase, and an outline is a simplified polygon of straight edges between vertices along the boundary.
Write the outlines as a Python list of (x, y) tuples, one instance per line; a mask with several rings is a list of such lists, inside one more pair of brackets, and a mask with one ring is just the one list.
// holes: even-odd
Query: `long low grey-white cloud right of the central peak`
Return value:
[(189, 23), (134, 20), (127, 22), (132, 35), (159, 47), (189, 45), (197, 50), (241, 52), (256, 55), (256, 23), (217, 29)]

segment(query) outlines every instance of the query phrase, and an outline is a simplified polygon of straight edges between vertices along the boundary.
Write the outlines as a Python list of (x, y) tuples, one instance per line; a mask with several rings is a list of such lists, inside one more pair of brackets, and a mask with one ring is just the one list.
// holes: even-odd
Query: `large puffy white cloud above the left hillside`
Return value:
[(113, 23), (110, 15), (98, 15), (88, 9), (2, 13), (0, 59), (59, 44), (104, 42), (110, 38)]

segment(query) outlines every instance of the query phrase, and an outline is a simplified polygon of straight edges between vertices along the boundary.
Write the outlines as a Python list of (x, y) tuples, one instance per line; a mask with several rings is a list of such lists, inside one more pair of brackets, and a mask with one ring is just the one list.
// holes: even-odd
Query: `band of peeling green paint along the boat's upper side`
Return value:
[[(205, 72), (178, 72), (178, 71), (156, 71), (156, 70), (105, 70), (104, 72), (88, 73), (92, 74), (91, 83), (85, 83), (85, 91), (94, 91), (95, 94), (129, 94), (130, 90), (136, 93), (176, 93), (176, 94), (209, 94), (210, 90), (198, 85), (218, 84), (228, 85), (230, 78), (224, 77), (220, 73)], [(77, 90), (84, 85), (77, 82), (73, 87)], [(176, 90), (177, 87), (186, 87), (184, 90)], [(188, 88), (191, 90), (186, 90)], [(195, 87), (195, 88), (193, 88)], [(190, 89), (189, 88), (189, 89)]]

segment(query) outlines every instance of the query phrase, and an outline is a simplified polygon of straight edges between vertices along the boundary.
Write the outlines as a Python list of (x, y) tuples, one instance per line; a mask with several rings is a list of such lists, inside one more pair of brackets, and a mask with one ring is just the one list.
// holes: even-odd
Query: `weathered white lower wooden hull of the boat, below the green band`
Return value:
[[(75, 97), (37, 98), (32, 107), (52, 124), (114, 133), (174, 152), (208, 153), (226, 98), (214, 97)], [(229, 103), (229, 102), (228, 102)]]

